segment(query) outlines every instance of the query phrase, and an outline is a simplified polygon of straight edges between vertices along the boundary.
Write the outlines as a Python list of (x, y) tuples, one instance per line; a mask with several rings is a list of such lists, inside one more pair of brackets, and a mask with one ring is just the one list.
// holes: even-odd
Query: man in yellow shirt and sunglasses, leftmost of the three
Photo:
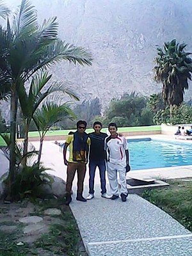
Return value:
[[(66, 182), (66, 205), (72, 201), (70, 191), (77, 170), (77, 197), (76, 200), (86, 202), (83, 197), (83, 182), (86, 173), (86, 163), (88, 161), (88, 150), (90, 138), (85, 132), (86, 122), (79, 120), (77, 122), (77, 131), (70, 134), (65, 141), (63, 148), (64, 164), (67, 165), (67, 182)], [(67, 147), (69, 146), (69, 158), (66, 159)]]

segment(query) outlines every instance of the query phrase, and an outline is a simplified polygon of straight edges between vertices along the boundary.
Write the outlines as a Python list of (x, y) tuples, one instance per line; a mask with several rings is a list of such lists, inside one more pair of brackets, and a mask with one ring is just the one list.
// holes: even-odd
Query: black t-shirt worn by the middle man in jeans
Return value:
[(104, 151), (104, 140), (108, 137), (108, 134), (100, 132), (91, 132), (88, 134), (91, 140), (90, 145), (90, 160), (104, 160), (106, 159), (106, 152)]

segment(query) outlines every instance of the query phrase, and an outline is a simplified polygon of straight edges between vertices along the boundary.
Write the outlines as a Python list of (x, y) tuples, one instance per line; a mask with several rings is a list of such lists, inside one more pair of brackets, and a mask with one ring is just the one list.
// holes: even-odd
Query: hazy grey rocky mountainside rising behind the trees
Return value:
[[(20, 0), (6, 0), (15, 10)], [(161, 90), (154, 82), (157, 45), (177, 39), (192, 51), (191, 0), (31, 0), (40, 22), (58, 17), (60, 37), (93, 53), (92, 67), (67, 62), (52, 68), (67, 78), (81, 100), (99, 97), (102, 108), (125, 92), (144, 95)], [(186, 92), (192, 97), (192, 88)]]

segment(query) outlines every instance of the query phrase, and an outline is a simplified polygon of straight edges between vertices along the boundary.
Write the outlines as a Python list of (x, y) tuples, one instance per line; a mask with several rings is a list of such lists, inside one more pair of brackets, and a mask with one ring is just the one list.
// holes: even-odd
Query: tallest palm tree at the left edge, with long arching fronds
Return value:
[(0, 84), (10, 91), (10, 189), (15, 173), (15, 131), (19, 88), (38, 70), (49, 68), (61, 60), (74, 64), (92, 65), (92, 54), (58, 39), (56, 18), (38, 25), (36, 10), (28, 0), (22, 0), (13, 16), (12, 28), (7, 19), (6, 29), (0, 29)]

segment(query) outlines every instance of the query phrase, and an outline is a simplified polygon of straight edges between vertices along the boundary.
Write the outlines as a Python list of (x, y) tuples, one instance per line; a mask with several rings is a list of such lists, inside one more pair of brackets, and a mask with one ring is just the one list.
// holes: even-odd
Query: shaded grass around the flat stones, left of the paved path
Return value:
[[(59, 216), (46, 216), (51, 218), (43, 220), (49, 228), (49, 232), (40, 234), (39, 238), (34, 242), (25, 242), (22, 237), (27, 236), (23, 233), (23, 228), (26, 226), (22, 223), (12, 221), (2, 221), (1, 225), (17, 225), (17, 229), (12, 232), (4, 232), (0, 230), (0, 256), (87, 256), (85, 252), (76, 220), (70, 211), (70, 208), (65, 205), (64, 199), (31, 199), (34, 205), (32, 215), (45, 217), (44, 211), (49, 208), (60, 209), (62, 214)], [(18, 208), (28, 207), (28, 201), (14, 203)], [(0, 205), (0, 209), (9, 211), (10, 205)], [(17, 209), (17, 208), (16, 208)], [(7, 214), (3, 212), (3, 214)], [(30, 216), (30, 214), (28, 215)], [(20, 216), (22, 217), (22, 216)], [(23, 242), (22, 245), (17, 245), (18, 241)], [(28, 240), (29, 241), (29, 240)]]

